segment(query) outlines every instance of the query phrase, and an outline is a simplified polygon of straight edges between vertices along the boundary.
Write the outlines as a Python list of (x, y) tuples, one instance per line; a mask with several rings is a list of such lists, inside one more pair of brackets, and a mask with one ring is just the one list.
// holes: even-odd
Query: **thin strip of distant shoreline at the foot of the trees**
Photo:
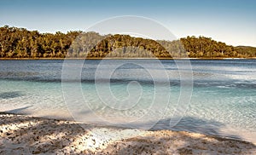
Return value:
[(0, 58), (0, 60), (255, 60), (251, 58)]

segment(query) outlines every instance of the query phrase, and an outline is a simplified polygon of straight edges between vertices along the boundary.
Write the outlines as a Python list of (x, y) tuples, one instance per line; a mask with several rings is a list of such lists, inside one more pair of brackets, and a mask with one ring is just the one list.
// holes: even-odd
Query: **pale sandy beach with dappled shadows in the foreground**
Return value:
[(256, 154), (256, 146), (246, 141), (183, 131), (118, 129), (7, 113), (0, 117), (0, 154)]

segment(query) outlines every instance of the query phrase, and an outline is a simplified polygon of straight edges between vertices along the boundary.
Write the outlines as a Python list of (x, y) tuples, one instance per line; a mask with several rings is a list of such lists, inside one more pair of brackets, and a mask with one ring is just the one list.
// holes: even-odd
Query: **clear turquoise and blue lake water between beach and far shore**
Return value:
[[(1, 60), (0, 111), (256, 141), (256, 60), (190, 60), (193, 72), (173, 60), (69, 60), (73, 68), (84, 63), (81, 77), (72, 70), (61, 83), (63, 62)], [(181, 74), (185, 90), (193, 75), (191, 96), (180, 93)], [(177, 107), (182, 119), (170, 127)]]

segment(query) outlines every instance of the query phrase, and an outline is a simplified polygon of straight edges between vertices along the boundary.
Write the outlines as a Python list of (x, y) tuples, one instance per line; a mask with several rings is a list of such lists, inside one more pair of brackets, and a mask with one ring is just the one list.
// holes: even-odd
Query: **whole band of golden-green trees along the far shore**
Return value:
[(210, 37), (154, 41), (129, 35), (96, 32), (39, 33), (25, 28), (0, 27), (0, 58), (250, 58), (256, 48), (233, 47)]

